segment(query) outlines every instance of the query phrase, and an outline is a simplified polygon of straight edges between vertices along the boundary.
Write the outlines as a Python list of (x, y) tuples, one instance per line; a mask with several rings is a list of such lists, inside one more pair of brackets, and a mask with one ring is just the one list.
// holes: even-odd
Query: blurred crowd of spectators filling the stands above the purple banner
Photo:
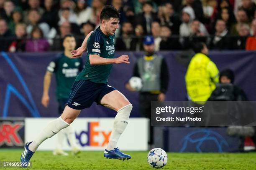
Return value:
[(72, 33), (81, 45), (100, 25), (105, 5), (120, 11), (115, 50), (185, 50), (205, 42), (210, 50), (256, 50), (255, 0), (0, 0), (0, 51), (63, 50)]

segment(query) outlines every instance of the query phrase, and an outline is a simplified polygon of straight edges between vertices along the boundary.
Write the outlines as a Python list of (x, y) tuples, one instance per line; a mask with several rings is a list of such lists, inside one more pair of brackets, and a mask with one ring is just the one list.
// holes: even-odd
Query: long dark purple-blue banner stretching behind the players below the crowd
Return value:
[[(0, 53), (0, 117), (57, 117), (58, 103), (55, 97), (55, 80), (49, 91), (50, 103), (41, 105), (43, 80), (46, 67), (56, 57), (56, 52)], [(131, 64), (114, 65), (108, 84), (122, 92), (133, 104), (131, 117), (138, 113), (138, 92), (125, 89), (125, 82), (132, 76), (133, 66), (143, 52), (116, 52), (115, 56), (129, 55)], [(169, 67), (169, 89), (166, 100), (186, 100), (184, 75), (187, 67), (177, 60), (177, 52), (159, 52)], [(234, 70), (235, 84), (245, 90), (249, 100), (256, 100), (256, 52), (213, 51), (210, 58), (219, 70)], [(85, 58), (85, 56), (83, 56)], [(113, 117), (115, 112), (102, 106), (92, 105), (83, 110), (80, 117)]]

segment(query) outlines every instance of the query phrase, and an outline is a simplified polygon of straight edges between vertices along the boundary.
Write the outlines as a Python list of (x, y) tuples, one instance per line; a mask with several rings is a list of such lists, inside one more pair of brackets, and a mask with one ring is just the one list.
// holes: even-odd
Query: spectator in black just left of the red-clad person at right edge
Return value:
[(238, 25), (238, 36), (233, 37), (233, 50), (245, 50), (246, 39), (250, 35), (250, 27), (246, 24)]

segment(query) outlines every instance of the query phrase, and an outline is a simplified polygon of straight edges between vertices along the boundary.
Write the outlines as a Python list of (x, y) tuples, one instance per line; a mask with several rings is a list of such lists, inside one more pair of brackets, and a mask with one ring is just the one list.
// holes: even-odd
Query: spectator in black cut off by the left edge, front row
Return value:
[(0, 19), (0, 51), (7, 51), (10, 46), (12, 34), (4, 19)]

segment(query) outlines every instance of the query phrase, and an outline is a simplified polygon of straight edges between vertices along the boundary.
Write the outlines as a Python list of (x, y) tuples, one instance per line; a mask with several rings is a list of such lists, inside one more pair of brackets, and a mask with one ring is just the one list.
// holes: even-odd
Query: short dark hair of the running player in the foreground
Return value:
[(106, 5), (101, 13), (100, 13), (100, 23), (102, 20), (109, 20), (110, 18), (118, 18), (120, 17), (120, 13), (115, 7), (111, 5)]

